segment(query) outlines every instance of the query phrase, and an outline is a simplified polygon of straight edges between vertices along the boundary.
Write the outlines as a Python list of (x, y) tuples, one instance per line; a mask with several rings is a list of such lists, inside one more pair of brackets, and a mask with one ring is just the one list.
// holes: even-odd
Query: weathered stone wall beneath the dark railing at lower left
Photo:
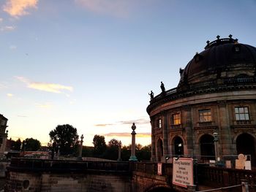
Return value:
[(9, 172), (6, 191), (130, 191), (130, 176), (115, 174)]

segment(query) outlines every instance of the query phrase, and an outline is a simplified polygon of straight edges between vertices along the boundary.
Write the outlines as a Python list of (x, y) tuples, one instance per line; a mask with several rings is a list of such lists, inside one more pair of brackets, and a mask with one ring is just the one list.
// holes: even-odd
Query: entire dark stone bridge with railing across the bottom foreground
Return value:
[[(172, 184), (172, 164), (117, 161), (61, 161), (12, 158), (7, 167), (5, 191), (201, 191), (237, 185), (230, 191), (241, 191), (241, 182), (256, 191), (256, 172), (225, 169), (195, 164), (194, 186), (188, 188)], [(222, 190), (225, 191), (225, 190)]]

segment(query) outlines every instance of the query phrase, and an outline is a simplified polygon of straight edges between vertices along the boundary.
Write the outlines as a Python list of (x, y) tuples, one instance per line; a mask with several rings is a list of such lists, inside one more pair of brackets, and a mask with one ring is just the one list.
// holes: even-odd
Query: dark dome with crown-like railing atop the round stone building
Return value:
[[(232, 77), (233, 70), (249, 69), (255, 72), (256, 47), (238, 43), (238, 39), (219, 39), (207, 42), (205, 50), (196, 53), (185, 69), (181, 69), (178, 87), (195, 82), (216, 80), (219, 77)], [(244, 72), (244, 70), (242, 70)], [(237, 74), (237, 73), (235, 73)], [(246, 75), (251, 76), (255, 74)]]

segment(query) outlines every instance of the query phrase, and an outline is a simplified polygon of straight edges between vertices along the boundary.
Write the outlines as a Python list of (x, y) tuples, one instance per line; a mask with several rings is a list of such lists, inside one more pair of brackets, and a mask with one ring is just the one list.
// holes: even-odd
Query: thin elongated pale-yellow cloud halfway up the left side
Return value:
[(39, 91), (47, 91), (51, 93), (63, 93), (64, 90), (73, 91), (71, 86), (60, 85), (56, 83), (48, 83), (48, 82), (33, 82), (26, 77), (15, 77), (21, 82), (25, 82), (27, 88), (33, 88)]

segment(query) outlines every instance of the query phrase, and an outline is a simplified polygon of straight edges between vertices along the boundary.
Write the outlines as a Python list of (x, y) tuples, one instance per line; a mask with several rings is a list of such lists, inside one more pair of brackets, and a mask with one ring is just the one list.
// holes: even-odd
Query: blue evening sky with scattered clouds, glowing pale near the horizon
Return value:
[(233, 34), (256, 46), (256, 1), (0, 0), (0, 114), (8, 137), (70, 124), (95, 134), (151, 143), (150, 97), (176, 88), (179, 69), (206, 41)]

